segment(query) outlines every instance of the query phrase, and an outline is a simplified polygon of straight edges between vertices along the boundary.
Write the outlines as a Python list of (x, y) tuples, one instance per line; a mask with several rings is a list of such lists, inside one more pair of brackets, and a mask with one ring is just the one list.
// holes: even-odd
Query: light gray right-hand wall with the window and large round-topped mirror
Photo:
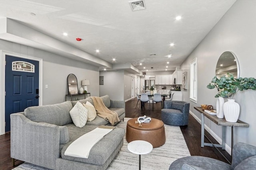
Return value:
[[(224, 51), (232, 51), (238, 58), (241, 77), (256, 78), (256, 1), (237, 0), (222, 19), (194, 49), (188, 59), (181, 65), (188, 70), (190, 62), (198, 60), (198, 102), (190, 102), (190, 110), (201, 119), (193, 107), (210, 104), (216, 108), (216, 89), (210, 90), (206, 85), (215, 75), (218, 58)], [(188, 80), (189, 80), (188, 71)], [(189, 88), (189, 81), (188, 81)], [(182, 98), (189, 100), (189, 89), (182, 92)], [(256, 90), (240, 91), (235, 97), (240, 105), (239, 119), (249, 123), (250, 127), (236, 127), (234, 143), (244, 142), (256, 146)], [(221, 139), (221, 127), (206, 119), (205, 124)], [(226, 141), (231, 146), (231, 128), (227, 128)]]

